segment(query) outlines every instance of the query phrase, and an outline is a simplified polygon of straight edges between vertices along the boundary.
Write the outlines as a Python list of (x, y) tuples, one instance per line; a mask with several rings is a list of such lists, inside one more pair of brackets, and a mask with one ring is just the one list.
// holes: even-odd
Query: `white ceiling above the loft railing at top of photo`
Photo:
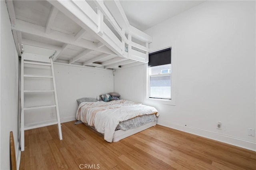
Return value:
[(204, 0), (120, 0), (130, 25), (147, 30)]

